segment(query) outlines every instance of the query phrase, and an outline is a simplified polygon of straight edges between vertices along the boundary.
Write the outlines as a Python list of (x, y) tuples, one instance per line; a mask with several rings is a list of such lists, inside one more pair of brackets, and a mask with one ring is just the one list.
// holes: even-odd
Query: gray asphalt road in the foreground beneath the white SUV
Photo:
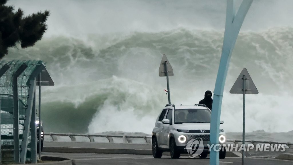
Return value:
[[(180, 159), (171, 159), (170, 156), (163, 156), (161, 159), (155, 159), (151, 155), (130, 155), (130, 154), (76, 154), (76, 153), (42, 153), (44, 156), (65, 157), (74, 159), (76, 165), (91, 165), (91, 164), (109, 164), (109, 165), (209, 165), (209, 158), (189, 158), (182, 156)], [(221, 165), (239, 164), (241, 165), (241, 158), (226, 158), (220, 159)], [(276, 160), (270, 158), (245, 158), (247, 165), (292, 165), (293, 161)]]

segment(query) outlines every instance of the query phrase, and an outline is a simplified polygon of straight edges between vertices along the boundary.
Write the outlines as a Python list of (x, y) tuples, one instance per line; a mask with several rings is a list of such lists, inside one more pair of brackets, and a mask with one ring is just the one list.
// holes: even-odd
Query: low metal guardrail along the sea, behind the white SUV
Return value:
[[(58, 141), (57, 136), (68, 136), (70, 137), (72, 142), (76, 142), (76, 136), (78, 137), (88, 137), (90, 142), (95, 142), (94, 137), (105, 137), (108, 139), (109, 143), (113, 143), (113, 137), (122, 138), (124, 143), (131, 143), (130, 138), (142, 138), (147, 143), (151, 143), (151, 136), (127, 136), (127, 135), (97, 135), (97, 134), (73, 134), (73, 133), (45, 133), (44, 135), (48, 135), (52, 138), (53, 141)], [(234, 144), (242, 142), (242, 140), (227, 140), (227, 142), (233, 142)], [(245, 142), (255, 144), (286, 144), (288, 147), (293, 147), (293, 143), (291, 142), (272, 142), (272, 141), (255, 141), (255, 140), (246, 140)]]

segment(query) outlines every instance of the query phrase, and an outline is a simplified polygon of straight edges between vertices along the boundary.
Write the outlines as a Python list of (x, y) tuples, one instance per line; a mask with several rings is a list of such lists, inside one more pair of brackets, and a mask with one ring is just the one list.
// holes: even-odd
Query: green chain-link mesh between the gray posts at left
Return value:
[[(28, 100), (28, 79), (37, 65), (42, 61), (38, 60), (13, 60), (0, 61), (0, 67), (8, 64), (10, 67), (0, 78), (0, 98), (1, 98), (1, 152), (2, 154), (13, 150), (13, 74), (25, 63), (28, 67), (18, 76), (18, 112), (19, 112), (19, 144), (22, 142), (24, 129), (25, 112), (27, 110)], [(30, 138), (29, 138), (30, 141)], [(11, 147), (12, 146), (12, 147)], [(28, 147), (28, 150), (29, 147)], [(3, 155), (2, 155), (3, 156)], [(5, 156), (5, 155), (4, 155)]]

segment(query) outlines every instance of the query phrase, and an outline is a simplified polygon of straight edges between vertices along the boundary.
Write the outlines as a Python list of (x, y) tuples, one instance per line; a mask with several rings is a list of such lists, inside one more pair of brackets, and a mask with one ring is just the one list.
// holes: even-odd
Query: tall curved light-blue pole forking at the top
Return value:
[[(253, 0), (243, 0), (237, 14), (235, 15), (234, 0), (227, 0), (224, 42), (212, 105), (210, 128), (211, 144), (219, 144), (221, 107), (228, 67), (236, 39), (238, 37), (243, 20), (246, 16), (246, 13), (248, 12), (249, 7), (251, 6), (252, 1)], [(211, 149), (209, 162), (210, 165), (219, 165), (219, 152), (216, 152), (213, 149)]]

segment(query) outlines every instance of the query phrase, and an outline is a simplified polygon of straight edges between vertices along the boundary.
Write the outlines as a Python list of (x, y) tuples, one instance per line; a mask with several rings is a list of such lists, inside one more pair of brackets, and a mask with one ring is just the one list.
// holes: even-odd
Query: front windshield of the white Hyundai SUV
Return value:
[(211, 122), (211, 112), (207, 109), (176, 109), (174, 116), (175, 124)]

